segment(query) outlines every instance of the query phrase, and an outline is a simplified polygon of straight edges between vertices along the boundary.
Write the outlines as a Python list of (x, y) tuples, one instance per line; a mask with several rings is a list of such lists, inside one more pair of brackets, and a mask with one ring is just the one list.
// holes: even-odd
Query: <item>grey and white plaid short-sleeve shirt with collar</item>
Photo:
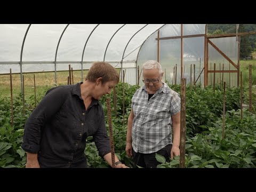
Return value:
[(154, 153), (172, 144), (171, 116), (180, 111), (180, 95), (162, 84), (149, 100), (145, 86), (133, 95), (132, 147), (137, 153)]

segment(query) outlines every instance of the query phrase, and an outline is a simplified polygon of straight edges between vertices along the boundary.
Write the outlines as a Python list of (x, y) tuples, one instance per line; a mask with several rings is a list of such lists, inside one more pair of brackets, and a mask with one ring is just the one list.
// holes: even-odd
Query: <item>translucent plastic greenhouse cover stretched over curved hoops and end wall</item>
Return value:
[[(9, 73), (10, 68), (13, 73), (20, 73), (21, 46), (28, 26), (0, 24), (0, 74)], [(68, 70), (69, 64), (74, 70), (81, 70), (82, 67), (89, 69), (94, 61), (106, 61), (125, 70), (125, 82), (137, 84), (137, 67), (141, 70), (145, 61), (157, 60), (158, 29), (159, 37), (166, 38), (159, 41), (159, 62), (166, 81), (173, 83), (176, 65), (178, 84), (181, 73), (187, 78), (187, 83), (190, 83), (190, 65), (195, 64), (195, 77), (198, 79), (204, 67), (204, 36), (183, 38), (183, 71), (180, 36), (203, 35), (205, 24), (183, 24), (183, 34), (181, 24), (32, 24), (23, 46), (22, 73), (54, 71), (59, 43), (57, 71)], [(236, 37), (210, 38), (210, 41), (237, 63)], [(228, 61), (209, 45), (209, 63), (214, 61), (224, 63), (225, 70), (229, 70)], [(231, 65), (230, 70), (234, 69)], [(203, 75), (204, 73), (198, 79), (202, 84)], [(142, 77), (140, 83), (141, 79)]]

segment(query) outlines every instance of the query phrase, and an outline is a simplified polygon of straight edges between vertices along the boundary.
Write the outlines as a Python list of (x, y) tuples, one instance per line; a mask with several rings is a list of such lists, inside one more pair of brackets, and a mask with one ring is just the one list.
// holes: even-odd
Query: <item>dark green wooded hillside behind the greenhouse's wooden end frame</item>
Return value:
[[(236, 24), (208, 24), (208, 34), (228, 34), (236, 33)], [(256, 24), (239, 24), (238, 33), (256, 31)], [(252, 57), (252, 52), (256, 51), (256, 35), (246, 35), (241, 37), (240, 59)]]

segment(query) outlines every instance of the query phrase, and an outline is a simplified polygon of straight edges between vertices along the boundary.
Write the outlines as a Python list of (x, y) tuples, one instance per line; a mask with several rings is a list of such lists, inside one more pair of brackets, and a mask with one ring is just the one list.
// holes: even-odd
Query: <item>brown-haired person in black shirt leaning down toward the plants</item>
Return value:
[[(84, 83), (54, 87), (27, 119), (22, 149), (26, 167), (87, 167), (86, 138), (93, 136), (99, 155), (111, 165), (110, 141), (99, 99), (110, 94), (119, 74), (95, 62)], [(115, 156), (117, 168), (126, 168)]]

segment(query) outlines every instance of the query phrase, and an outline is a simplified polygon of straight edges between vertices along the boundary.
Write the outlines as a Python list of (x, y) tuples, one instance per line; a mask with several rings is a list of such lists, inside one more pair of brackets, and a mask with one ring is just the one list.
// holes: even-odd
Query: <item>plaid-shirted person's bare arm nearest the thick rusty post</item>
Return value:
[(171, 159), (180, 155), (180, 112), (172, 116), (173, 141)]

